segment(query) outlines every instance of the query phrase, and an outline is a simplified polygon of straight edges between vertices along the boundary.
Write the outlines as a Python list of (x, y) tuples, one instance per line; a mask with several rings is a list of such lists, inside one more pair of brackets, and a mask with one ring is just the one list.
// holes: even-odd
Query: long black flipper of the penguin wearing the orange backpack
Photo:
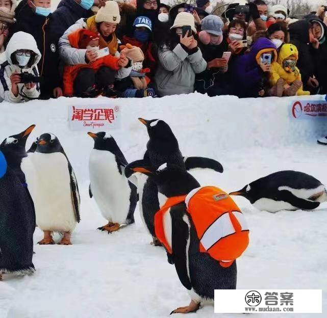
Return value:
[(187, 273), (187, 240), (190, 237), (189, 226), (183, 220), (186, 215), (185, 204), (179, 204), (171, 207), (171, 245), (172, 257), (168, 257), (168, 262), (175, 264), (177, 275), (185, 288), (192, 288), (190, 278)]

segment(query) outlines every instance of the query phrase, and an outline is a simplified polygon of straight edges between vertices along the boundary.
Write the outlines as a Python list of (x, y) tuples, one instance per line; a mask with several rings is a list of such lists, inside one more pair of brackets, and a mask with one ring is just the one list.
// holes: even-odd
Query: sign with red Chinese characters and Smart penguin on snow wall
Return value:
[(120, 108), (115, 105), (79, 105), (68, 107), (71, 130), (112, 130), (120, 128)]

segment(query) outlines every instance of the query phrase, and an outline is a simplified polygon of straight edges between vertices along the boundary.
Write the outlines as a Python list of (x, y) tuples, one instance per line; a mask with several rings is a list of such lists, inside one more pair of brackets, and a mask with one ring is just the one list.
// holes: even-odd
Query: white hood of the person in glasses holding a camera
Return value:
[(10, 65), (13, 64), (11, 61), (11, 55), (19, 49), (29, 49), (36, 54), (32, 66), (35, 66), (37, 65), (37, 63), (39, 63), (41, 59), (41, 53), (37, 48), (36, 42), (31, 34), (22, 31), (13, 34), (7, 44), (7, 48), (5, 51), (7, 61)]

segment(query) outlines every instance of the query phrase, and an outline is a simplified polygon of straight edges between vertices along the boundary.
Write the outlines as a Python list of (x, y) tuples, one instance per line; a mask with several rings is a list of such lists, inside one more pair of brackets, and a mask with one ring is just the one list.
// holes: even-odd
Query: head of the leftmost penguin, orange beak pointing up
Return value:
[(26, 156), (26, 141), (35, 125), (31, 125), (21, 133), (17, 135), (12, 135), (7, 137), (2, 144), (0, 145), (0, 150), (5, 155), (7, 162), (10, 161), (9, 157), (17, 156), (24, 157)]

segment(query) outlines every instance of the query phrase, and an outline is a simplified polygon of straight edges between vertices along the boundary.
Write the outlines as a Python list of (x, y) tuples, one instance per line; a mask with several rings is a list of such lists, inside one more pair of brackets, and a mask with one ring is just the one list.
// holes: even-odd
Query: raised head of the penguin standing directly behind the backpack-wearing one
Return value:
[(164, 148), (164, 150), (178, 148), (178, 141), (166, 122), (160, 119), (146, 120), (143, 118), (139, 118), (139, 121), (146, 126), (150, 138), (148, 148)]

